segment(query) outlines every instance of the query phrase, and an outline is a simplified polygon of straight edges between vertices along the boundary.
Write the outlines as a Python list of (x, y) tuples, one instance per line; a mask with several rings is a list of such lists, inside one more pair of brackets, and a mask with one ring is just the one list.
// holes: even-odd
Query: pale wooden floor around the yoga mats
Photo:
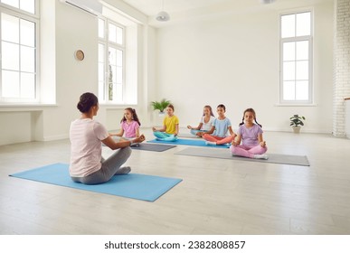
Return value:
[(69, 163), (69, 140), (0, 146), (0, 234), (350, 234), (350, 140), (264, 136), (268, 153), (307, 155), (311, 166), (174, 155), (184, 145), (133, 151), (133, 173), (184, 180), (155, 202), (8, 176)]

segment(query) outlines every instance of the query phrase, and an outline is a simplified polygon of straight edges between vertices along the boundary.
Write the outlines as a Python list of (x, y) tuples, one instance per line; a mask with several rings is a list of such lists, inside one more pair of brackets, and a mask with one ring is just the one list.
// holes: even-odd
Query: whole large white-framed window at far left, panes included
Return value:
[(1, 0), (0, 102), (37, 101), (35, 0)]

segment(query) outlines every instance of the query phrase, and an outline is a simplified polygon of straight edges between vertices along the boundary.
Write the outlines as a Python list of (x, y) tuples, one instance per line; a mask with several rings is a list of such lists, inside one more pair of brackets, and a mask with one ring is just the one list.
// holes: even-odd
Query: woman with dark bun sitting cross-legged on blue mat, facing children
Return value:
[[(80, 96), (77, 108), (81, 117), (71, 122), (71, 179), (77, 183), (96, 184), (108, 182), (115, 174), (125, 174), (131, 168), (121, 167), (131, 155), (133, 143), (141, 143), (145, 136), (115, 142), (105, 126), (93, 119), (99, 111), (99, 99), (92, 93)], [(117, 151), (107, 160), (102, 157), (102, 146)]]

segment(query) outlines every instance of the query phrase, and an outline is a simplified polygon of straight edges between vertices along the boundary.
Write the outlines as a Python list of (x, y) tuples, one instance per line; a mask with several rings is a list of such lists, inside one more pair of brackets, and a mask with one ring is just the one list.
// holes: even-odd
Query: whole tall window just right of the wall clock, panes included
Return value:
[(125, 95), (125, 28), (99, 18), (99, 100), (122, 104)]

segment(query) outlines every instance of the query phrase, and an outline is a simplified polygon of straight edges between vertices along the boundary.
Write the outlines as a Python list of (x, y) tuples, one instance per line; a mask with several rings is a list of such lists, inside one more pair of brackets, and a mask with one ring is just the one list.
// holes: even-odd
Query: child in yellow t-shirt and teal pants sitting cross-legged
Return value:
[(152, 127), (153, 135), (157, 140), (175, 141), (179, 133), (179, 119), (174, 115), (174, 106), (168, 105), (166, 107), (167, 116), (163, 120), (163, 127), (156, 129)]

